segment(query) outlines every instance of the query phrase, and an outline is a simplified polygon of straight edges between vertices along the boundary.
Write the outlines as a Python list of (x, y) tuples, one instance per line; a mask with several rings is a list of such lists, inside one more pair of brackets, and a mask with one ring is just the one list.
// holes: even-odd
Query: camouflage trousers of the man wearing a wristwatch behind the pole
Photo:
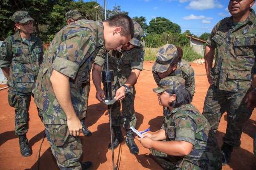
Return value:
[[(115, 88), (112, 90), (113, 96), (116, 95), (117, 89), (120, 86), (116, 84)], [(134, 110), (134, 99), (135, 99), (135, 87), (134, 85), (129, 88), (129, 93), (125, 95), (125, 98), (121, 100), (122, 102), (122, 116), (121, 116), (121, 104), (120, 101), (115, 102), (111, 105), (111, 118), (113, 126), (121, 126), (125, 129), (130, 129), (130, 127), (136, 127), (136, 115)]]

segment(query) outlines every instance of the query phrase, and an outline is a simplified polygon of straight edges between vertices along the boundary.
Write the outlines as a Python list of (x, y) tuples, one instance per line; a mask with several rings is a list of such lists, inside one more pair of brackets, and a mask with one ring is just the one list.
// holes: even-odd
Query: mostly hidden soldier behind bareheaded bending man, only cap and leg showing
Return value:
[[(67, 24), (84, 19), (84, 17), (80, 14), (78, 9), (68, 11), (65, 14), (65, 17), (67, 18)], [(89, 92), (90, 92), (90, 72), (87, 75), (87, 79), (88, 79), (88, 82), (86, 83), (86, 85), (84, 87), (85, 96), (87, 97), (85, 99), (85, 105), (84, 105), (85, 117), (87, 116), (88, 97), (89, 97)], [(89, 129), (87, 129), (87, 127), (85, 125), (85, 117), (83, 117), (80, 120), (81, 125), (82, 125), (82, 131), (83, 131), (84, 136), (91, 136), (92, 135), (91, 131)]]

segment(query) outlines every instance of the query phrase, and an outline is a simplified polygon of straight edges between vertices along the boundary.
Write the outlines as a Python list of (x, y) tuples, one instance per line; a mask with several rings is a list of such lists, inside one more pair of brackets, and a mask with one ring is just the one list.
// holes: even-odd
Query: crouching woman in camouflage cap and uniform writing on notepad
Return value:
[(158, 93), (159, 104), (170, 112), (160, 130), (143, 133), (143, 139), (136, 139), (166, 169), (220, 170), (221, 153), (215, 133), (207, 119), (190, 104), (192, 96), (185, 89), (185, 82), (181, 77), (160, 80), (160, 87), (153, 91)]

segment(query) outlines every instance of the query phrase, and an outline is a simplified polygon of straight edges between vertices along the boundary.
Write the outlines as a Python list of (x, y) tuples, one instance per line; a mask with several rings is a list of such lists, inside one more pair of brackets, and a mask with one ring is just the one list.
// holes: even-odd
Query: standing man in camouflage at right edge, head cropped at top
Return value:
[(216, 131), (222, 114), (227, 112), (227, 129), (221, 147), (223, 165), (230, 161), (233, 147), (240, 146), (245, 121), (252, 114), (245, 99), (252, 91), (251, 71), (255, 65), (256, 15), (250, 9), (254, 3), (255, 0), (230, 0), (228, 9), (232, 16), (216, 24), (204, 53), (210, 86), (202, 114)]

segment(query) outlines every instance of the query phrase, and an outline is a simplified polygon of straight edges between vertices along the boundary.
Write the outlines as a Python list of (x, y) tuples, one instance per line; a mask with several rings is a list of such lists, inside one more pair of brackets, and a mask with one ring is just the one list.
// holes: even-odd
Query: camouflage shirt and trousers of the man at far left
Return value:
[(43, 62), (43, 44), (30, 35), (30, 44), (20, 37), (20, 31), (7, 37), (0, 48), (0, 67), (10, 68), (7, 85), (8, 102), (15, 108), (15, 135), (26, 134), (29, 129), (29, 105), (32, 86)]

